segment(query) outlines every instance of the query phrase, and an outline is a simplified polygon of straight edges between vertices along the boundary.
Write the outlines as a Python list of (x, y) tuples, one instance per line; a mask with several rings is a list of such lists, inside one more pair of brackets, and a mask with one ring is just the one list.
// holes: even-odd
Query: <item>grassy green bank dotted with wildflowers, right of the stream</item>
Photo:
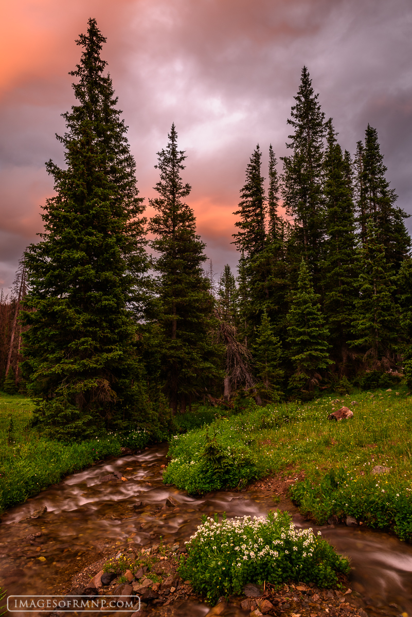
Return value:
[[(242, 415), (175, 436), (164, 481), (196, 493), (271, 473), (292, 479), (303, 473), (304, 482), (291, 482), (292, 496), (317, 522), (331, 514), (352, 515), (412, 540), (412, 397), (403, 386), (392, 390), (252, 406)], [(335, 410), (342, 405), (353, 410), (352, 420), (328, 420), (334, 399), (339, 399)], [(359, 404), (351, 405), (352, 400)], [(376, 465), (389, 473), (371, 474)]]

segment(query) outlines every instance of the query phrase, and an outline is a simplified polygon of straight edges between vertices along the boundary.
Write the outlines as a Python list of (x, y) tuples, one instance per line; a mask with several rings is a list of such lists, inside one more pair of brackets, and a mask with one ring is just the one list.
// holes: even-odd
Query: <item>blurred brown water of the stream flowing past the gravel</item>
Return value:
[[(72, 575), (108, 549), (154, 544), (160, 536), (165, 544), (182, 544), (196, 529), (202, 513), (253, 516), (266, 515), (274, 508), (267, 492), (218, 491), (189, 497), (163, 485), (160, 466), (167, 463), (166, 453), (166, 446), (157, 446), (99, 463), (9, 510), (0, 525), (0, 581), (7, 594), (67, 592)], [(100, 481), (113, 471), (120, 471), (127, 481)], [(159, 511), (169, 495), (181, 502), (179, 510)], [(137, 513), (128, 508), (140, 500), (146, 505)], [(44, 515), (28, 518), (43, 505), (47, 507)], [(288, 510), (297, 526), (310, 526), (288, 500), (276, 507)], [(380, 607), (381, 615), (406, 612), (412, 616), (411, 545), (365, 528), (313, 528), (320, 529), (339, 553), (350, 557), (350, 586), (361, 594), (369, 613), (374, 613), (372, 607)], [(42, 535), (30, 543), (27, 536), (38, 532)], [(390, 607), (391, 603), (399, 609)], [(208, 608), (187, 602), (175, 611), (170, 605), (162, 615), (200, 617)]]

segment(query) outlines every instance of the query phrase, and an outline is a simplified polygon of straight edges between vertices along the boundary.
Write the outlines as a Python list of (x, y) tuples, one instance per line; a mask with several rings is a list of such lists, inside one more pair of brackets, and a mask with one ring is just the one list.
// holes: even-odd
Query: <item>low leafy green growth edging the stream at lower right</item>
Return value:
[[(355, 478), (353, 477), (355, 476)], [(376, 529), (393, 528), (401, 540), (412, 540), (412, 491), (387, 474), (359, 476), (340, 468), (320, 482), (306, 479), (291, 489), (300, 510), (323, 524), (329, 516), (355, 516)]]

